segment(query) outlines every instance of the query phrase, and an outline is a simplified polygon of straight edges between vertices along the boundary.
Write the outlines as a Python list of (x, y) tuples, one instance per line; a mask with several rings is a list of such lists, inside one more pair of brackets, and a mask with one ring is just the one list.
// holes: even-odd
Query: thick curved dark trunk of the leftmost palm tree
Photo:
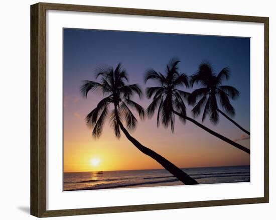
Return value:
[(190, 177), (188, 174), (183, 172), (181, 169), (179, 169), (176, 165), (168, 161), (166, 158), (162, 157), (158, 153), (154, 152), (153, 150), (143, 146), (139, 141), (134, 139), (127, 130), (123, 127), (122, 123), (119, 122), (120, 129), (126, 136), (126, 138), (141, 152), (144, 154), (150, 156), (151, 158), (155, 159), (158, 163), (160, 163), (166, 170), (168, 170), (171, 174), (173, 174), (176, 178), (178, 178), (181, 182), (183, 182), (186, 185), (194, 185), (198, 184), (196, 180), (194, 180), (192, 177)]

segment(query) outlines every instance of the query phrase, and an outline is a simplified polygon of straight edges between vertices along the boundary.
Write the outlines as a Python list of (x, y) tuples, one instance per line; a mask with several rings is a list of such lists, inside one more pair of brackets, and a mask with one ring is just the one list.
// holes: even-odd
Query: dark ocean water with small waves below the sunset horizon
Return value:
[[(250, 166), (182, 169), (199, 184), (250, 181)], [(165, 169), (64, 173), (63, 190), (112, 189), (183, 185)]]

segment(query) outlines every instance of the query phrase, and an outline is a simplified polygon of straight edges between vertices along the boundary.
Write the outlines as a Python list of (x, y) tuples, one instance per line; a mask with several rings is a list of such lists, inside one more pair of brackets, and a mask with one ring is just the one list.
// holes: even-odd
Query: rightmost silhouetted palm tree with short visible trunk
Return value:
[[(211, 123), (216, 125), (219, 121), (218, 113), (220, 113), (240, 130), (250, 135), (250, 132), (226, 115), (235, 116), (235, 109), (229, 99), (235, 100), (239, 96), (239, 91), (233, 86), (222, 85), (222, 80), (228, 80), (229, 76), (230, 70), (228, 67), (223, 68), (216, 75), (209, 63), (201, 63), (199, 65), (198, 71), (191, 76), (190, 84), (193, 86), (198, 83), (203, 87), (195, 89), (189, 96), (189, 103), (195, 105), (192, 109), (192, 114), (194, 117), (198, 117), (204, 108), (202, 122), (209, 115)], [(223, 111), (219, 109), (218, 103)]]

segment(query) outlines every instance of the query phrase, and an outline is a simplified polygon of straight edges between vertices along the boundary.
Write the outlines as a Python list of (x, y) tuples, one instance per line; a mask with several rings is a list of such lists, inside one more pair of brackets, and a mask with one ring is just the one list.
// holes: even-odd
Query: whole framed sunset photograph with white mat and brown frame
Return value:
[(268, 18), (31, 6), (32, 215), (268, 191)]

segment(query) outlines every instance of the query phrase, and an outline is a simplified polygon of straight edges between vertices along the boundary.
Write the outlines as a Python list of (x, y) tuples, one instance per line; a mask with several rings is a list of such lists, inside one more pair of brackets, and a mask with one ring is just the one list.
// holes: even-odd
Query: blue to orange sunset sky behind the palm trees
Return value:
[[(63, 44), (64, 172), (163, 168), (137, 150), (123, 134), (116, 139), (108, 120), (101, 137), (92, 138), (85, 117), (103, 97), (90, 92), (85, 99), (80, 86), (83, 80), (95, 81), (95, 69), (102, 65), (115, 68), (121, 62), (129, 83), (139, 83), (143, 90), (154, 85), (150, 81), (145, 85), (145, 71), (153, 68), (164, 73), (166, 64), (175, 57), (181, 61), (180, 72), (188, 76), (197, 71), (202, 61), (211, 63), (216, 73), (229, 67), (230, 79), (223, 84), (240, 92), (239, 98), (231, 101), (236, 110), (234, 120), (250, 129), (249, 38), (64, 29)], [(195, 88), (181, 87), (189, 92)], [(145, 109), (150, 104), (146, 96), (133, 100)], [(190, 117), (191, 109), (187, 107)], [(196, 120), (201, 122), (201, 116)], [(250, 148), (250, 139), (222, 116), (216, 126), (208, 119), (203, 125)], [(156, 127), (155, 114), (152, 119), (138, 119), (131, 135), (181, 168), (250, 164), (249, 154), (190, 122), (183, 125), (177, 117), (173, 134), (170, 128)]]

